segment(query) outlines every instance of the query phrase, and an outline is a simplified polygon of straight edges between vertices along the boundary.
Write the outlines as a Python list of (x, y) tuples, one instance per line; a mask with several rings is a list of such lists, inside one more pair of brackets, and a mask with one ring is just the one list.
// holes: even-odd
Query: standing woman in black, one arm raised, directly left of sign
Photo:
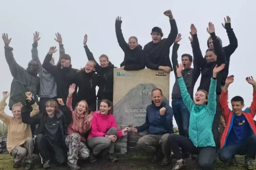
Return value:
[(107, 55), (103, 54), (100, 56), (100, 64), (97, 63), (93, 57), (92, 52), (87, 46), (87, 34), (84, 36), (84, 49), (88, 60), (94, 61), (95, 71), (99, 77), (99, 90), (97, 93), (97, 110), (100, 110), (100, 103), (102, 99), (108, 99), (113, 102), (113, 81), (114, 81), (114, 68), (115, 67), (108, 59)]

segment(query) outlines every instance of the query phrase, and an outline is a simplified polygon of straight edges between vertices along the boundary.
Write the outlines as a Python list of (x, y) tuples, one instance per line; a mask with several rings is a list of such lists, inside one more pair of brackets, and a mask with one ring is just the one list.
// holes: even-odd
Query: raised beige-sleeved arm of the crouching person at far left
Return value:
[(9, 97), (9, 92), (8, 91), (3, 91), (3, 99), (0, 102), (0, 120), (6, 125), (8, 126), (10, 124), (10, 121), (13, 119), (12, 116), (7, 115), (4, 112), (4, 108), (7, 105), (6, 104), (6, 99)]

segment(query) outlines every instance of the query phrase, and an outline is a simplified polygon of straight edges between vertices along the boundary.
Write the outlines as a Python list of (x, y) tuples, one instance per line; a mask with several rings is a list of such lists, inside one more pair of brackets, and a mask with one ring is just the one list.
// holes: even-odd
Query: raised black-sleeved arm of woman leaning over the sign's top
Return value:
[(116, 23), (115, 23), (117, 42), (118, 42), (119, 46), (122, 48), (122, 50), (125, 52), (127, 50), (127, 42), (125, 41), (125, 39), (123, 37), (121, 24), (122, 24), (121, 17), (117, 17)]

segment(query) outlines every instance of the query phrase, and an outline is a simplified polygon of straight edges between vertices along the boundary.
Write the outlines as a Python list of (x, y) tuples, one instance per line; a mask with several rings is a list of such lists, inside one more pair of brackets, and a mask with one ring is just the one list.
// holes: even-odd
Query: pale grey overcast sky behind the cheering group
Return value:
[[(163, 12), (171, 9), (177, 22), (178, 32), (183, 39), (178, 50), (179, 60), (184, 53), (192, 55), (188, 39), (190, 24), (194, 23), (198, 30), (201, 50), (207, 49), (209, 34), (206, 31), (208, 22), (215, 25), (216, 35), (222, 39), (223, 46), (229, 44), (226, 30), (222, 27), (224, 17), (231, 17), (231, 25), (238, 39), (238, 48), (231, 56), (229, 73), (235, 75), (235, 82), (230, 86), (229, 98), (241, 95), (245, 105), (252, 101), (252, 87), (245, 81), (246, 76), (255, 75), (255, 27), (253, 16), (255, 1), (215, 0), (215, 1), (170, 1), (153, 0), (140, 1), (1, 1), (1, 33), (8, 33), (12, 38), (10, 46), (14, 48), (14, 57), (18, 64), (27, 67), (31, 60), (33, 33), (40, 32), (38, 42), (39, 58), (43, 62), (50, 46), (57, 46), (54, 41), (55, 33), (61, 33), (66, 53), (71, 56), (74, 68), (84, 67), (87, 57), (83, 48), (83, 36), (88, 35), (88, 47), (95, 58), (101, 54), (109, 56), (110, 61), (117, 67), (123, 61), (124, 54), (119, 47), (115, 35), (115, 19), (121, 16), (122, 31), (128, 41), (130, 36), (136, 36), (139, 44), (144, 46), (151, 41), (151, 29), (154, 26), (162, 28), (164, 37), (170, 32), (168, 17)], [(251, 19), (249, 19), (251, 18)], [(12, 76), (4, 57), (4, 43), (0, 40), (1, 56), (1, 91), (10, 91)], [(172, 49), (172, 47), (171, 47)], [(171, 53), (171, 52), (170, 52)], [(58, 58), (58, 52), (54, 54)], [(200, 78), (199, 78), (200, 80)], [(195, 85), (197, 89), (199, 82)], [(170, 97), (174, 84), (174, 74), (170, 77)], [(170, 100), (171, 104), (171, 100)], [(6, 107), (6, 112), (12, 114)], [(176, 123), (174, 122), (176, 125)]]

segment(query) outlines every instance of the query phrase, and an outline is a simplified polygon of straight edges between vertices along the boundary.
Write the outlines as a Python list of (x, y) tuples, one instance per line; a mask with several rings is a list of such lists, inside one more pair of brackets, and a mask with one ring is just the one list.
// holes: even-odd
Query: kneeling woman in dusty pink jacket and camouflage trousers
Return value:
[(72, 122), (68, 125), (65, 144), (68, 147), (68, 166), (71, 170), (78, 170), (78, 158), (86, 159), (90, 155), (90, 151), (85, 145), (85, 133), (91, 128), (91, 120), (93, 112), (88, 114), (88, 104), (85, 100), (80, 101), (72, 109), (72, 95), (75, 91), (75, 84), (69, 86), (69, 93), (66, 105), (72, 112)]

